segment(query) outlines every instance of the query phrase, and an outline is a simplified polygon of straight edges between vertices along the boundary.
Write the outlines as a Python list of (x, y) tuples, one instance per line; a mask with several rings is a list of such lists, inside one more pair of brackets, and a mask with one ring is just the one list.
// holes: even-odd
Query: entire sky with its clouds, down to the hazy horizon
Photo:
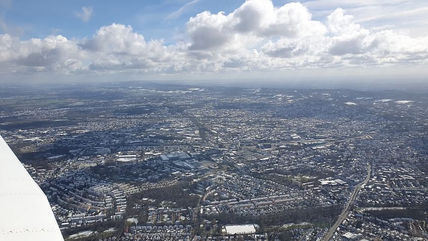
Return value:
[(0, 82), (425, 80), (425, 0), (0, 0)]

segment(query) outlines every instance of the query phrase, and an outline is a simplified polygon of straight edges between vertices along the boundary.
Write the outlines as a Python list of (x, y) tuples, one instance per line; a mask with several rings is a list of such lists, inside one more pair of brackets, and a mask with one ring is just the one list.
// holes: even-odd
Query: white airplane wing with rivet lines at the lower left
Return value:
[(2, 136), (0, 240), (64, 240), (48, 198)]

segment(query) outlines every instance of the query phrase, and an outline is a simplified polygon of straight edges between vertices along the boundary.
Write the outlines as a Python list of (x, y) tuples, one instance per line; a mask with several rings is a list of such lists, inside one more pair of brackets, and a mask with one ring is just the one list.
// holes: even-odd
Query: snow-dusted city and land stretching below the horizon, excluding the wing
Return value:
[(428, 238), (426, 94), (120, 82), (0, 95), (0, 134), (65, 240)]

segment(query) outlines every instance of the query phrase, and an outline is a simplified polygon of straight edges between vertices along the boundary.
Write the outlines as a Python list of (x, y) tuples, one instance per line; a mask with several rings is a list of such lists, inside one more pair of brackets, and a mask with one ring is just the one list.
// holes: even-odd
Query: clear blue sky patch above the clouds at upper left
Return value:
[[(22, 39), (44, 38), (52, 34), (84, 38), (94, 35), (95, 30), (103, 25), (121, 23), (132, 25), (135, 31), (143, 33), (147, 39), (165, 39), (171, 43), (175, 32), (183, 30), (184, 24), (196, 13), (205, 10), (213, 13), (231, 12), (243, 3), (237, 0), (196, 1), (188, 5), (181, 14), (167, 19), (170, 14), (190, 2), (192, 1), (126, 1), (124, 4), (122, 1), (5, 1), (7, 4), (3, 20), (8, 25), (22, 28), (15, 32)], [(82, 11), (82, 7), (93, 9), (87, 22), (75, 15)]]

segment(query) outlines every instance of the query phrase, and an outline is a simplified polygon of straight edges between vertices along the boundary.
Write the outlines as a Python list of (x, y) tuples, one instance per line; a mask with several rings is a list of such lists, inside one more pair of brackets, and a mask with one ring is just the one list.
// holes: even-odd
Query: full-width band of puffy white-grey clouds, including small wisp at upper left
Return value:
[[(79, 14), (88, 21), (92, 9)], [(428, 37), (368, 29), (342, 9), (314, 21), (300, 3), (275, 7), (270, 0), (250, 0), (229, 14), (199, 13), (185, 29), (185, 38), (172, 45), (115, 23), (85, 39), (4, 34), (0, 73), (240, 73), (428, 63)]]

